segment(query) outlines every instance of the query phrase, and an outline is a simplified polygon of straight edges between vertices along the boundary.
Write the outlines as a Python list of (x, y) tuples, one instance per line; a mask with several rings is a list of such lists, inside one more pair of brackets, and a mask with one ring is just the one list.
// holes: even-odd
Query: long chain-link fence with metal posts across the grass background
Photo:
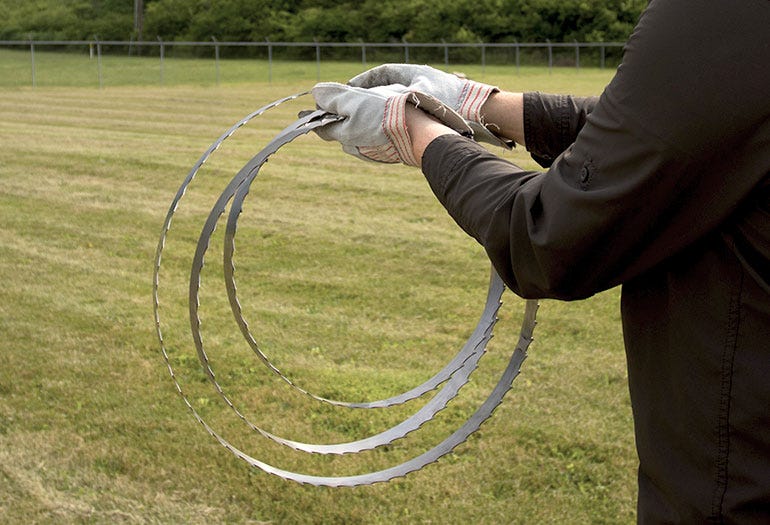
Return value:
[(316, 79), (331, 64), (615, 67), (620, 42), (0, 41), (0, 86)]

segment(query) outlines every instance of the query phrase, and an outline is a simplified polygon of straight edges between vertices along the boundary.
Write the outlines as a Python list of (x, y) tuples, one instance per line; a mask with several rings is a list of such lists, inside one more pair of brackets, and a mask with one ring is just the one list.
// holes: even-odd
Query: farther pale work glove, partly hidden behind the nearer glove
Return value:
[(401, 84), (410, 91), (439, 99), (463, 118), (482, 125), (481, 106), (489, 95), (499, 91), (495, 86), (462, 79), (430, 66), (413, 64), (383, 64), (351, 78), (348, 84), (362, 88)]

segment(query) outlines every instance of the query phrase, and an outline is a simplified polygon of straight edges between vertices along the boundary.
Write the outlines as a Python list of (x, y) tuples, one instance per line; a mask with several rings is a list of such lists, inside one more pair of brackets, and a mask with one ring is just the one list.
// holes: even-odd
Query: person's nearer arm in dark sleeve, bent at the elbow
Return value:
[(547, 172), (435, 129), (423, 172), (520, 295), (575, 299), (625, 282), (713, 233), (767, 177), (770, 48), (757, 43), (768, 23), (767, 2), (653, 1)]

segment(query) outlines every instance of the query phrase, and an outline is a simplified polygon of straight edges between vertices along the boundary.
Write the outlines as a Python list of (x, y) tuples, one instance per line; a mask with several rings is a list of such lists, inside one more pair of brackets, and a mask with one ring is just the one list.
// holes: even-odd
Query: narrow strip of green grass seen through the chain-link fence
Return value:
[[(364, 69), (355, 61), (323, 59), (302, 62), (274, 58), (220, 60), (167, 56), (162, 65), (158, 57), (137, 57), (104, 54), (99, 61), (85, 52), (46, 51), (38, 46), (34, 54), (34, 85), (36, 87), (117, 87), (117, 86), (174, 86), (179, 84), (215, 86), (242, 83), (291, 83), (312, 85), (317, 80), (344, 82)], [(0, 48), (0, 88), (30, 87), (33, 85), (32, 56), (29, 48)], [(392, 60), (392, 57), (389, 57)], [(413, 57), (419, 63), (419, 56)], [(537, 79), (537, 88), (559, 92), (586, 92), (594, 94), (607, 82), (612, 69), (583, 67), (556, 67), (551, 72), (529, 60), (517, 70), (512, 64), (452, 64), (449, 69), (465, 73), (470, 78), (486, 82), (509, 79), (511, 75), (524, 81)], [(547, 62), (546, 62), (547, 63)], [(536, 64), (536, 65), (532, 65)], [(374, 65), (371, 63), (370, 65)], [(446, 69), (443, 64), (436, 67)], [(543, 75), (547, 75), (543, 83)]]

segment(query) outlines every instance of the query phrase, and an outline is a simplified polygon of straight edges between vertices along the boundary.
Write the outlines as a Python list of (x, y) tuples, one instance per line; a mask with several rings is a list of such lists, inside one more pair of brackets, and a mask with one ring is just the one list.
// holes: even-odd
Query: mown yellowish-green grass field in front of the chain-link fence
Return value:
[[(253, 109), (312, 86), (314, 64), (286, 67), (312, 73), (272, 84), (167, 77), (164, 86), (2, 89), (3, 521), (633, 522), (636, 457), (618, 290), (577, 303), (544, 301), (530, 357), (494, 417), (404, 479), (353, 489), (286, 482), (250, 468), (195, 422), (155, 335), (156, 244), (171, 199), (209, 144)], [(358, 69), (328, 64), (324, 80), (343, 81)], [(610, 75), (487, 68), (484, 80), (592, 94)], [(424, 431), (385, 450), (306, 457), (250, 433), (197, 364), (185, 317), (190, 251), (230, 177), (311, 104), (304, 97), (256, 119), (201, 170), (164, 251), (161, 320), (191, 403), (234, 444), (284, 468), (354, 474), (414, 456), (468, 416), (505, 366), (523, 303), (505, 294), (471, 384)], [(504, 156), (534, 168), (525, 152)], [(334, 442), (414, 410), (350, 414), (267, 373), (227, 309), (217, 255), (223, 229), (207, 258), (201, 317), (217, 379), (244, 413), (292, 439)], [(266, 165), (237, 240), (239, 292), (262, 349), (321, 395), (381, 397), (423, 381), (459, 349), (483, 304), (488, 263), (419, 173), (356, 161), (315, 136)]]

